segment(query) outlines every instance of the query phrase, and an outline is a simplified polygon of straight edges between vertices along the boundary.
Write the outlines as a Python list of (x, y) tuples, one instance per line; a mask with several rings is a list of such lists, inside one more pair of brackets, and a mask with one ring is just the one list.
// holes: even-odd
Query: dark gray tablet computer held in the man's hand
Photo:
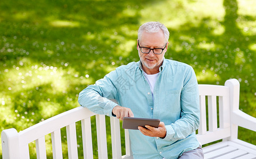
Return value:
[(145, 127), (145, 125), (158, 128), (159, 122), (160, 119), (123, 117), (122, 128), (138, 130), (138, 126)]

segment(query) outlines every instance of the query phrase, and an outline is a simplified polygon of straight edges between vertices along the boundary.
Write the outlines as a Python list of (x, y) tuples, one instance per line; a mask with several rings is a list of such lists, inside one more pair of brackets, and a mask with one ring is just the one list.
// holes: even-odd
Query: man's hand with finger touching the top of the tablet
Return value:
[(130, 108), (121, 107), (119, 105), (115, 106), (112, 110), (113, 114), (117, 116), (118, 119), (123, 119), (123, 117), (134, 117), (134, 113)]

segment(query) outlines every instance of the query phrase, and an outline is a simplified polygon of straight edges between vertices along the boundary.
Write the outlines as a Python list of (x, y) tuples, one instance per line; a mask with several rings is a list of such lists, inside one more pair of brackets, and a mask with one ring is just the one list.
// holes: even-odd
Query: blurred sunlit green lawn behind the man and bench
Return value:
[[(86, 86), (139, 60), (137, 29), (147, 21), (167, 26), (166, 58), (193, 66), (199, 84), (239, 80), (240, 109), (256, 117), (255, 10), (254, 0), (0, 1), (0, 131), (78, 107)], [(249, 130), (238, 138), (256, 144)]]

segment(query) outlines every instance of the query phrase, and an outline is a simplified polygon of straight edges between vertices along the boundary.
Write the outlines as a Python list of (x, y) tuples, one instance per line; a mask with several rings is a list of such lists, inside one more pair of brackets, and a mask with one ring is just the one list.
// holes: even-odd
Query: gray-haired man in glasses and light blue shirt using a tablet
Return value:
[(158, 128), (129, 130), (134, 158), (203, 158), (195, 136), (200, 118), (196, 76), (191, 66), (164, 58), (168, 39), (163, 24), (141, 25), (137, 39), (141, 60), (120, 66), (88, 86), (79, 93), (78, 102), (121, 120), (160, 119)]

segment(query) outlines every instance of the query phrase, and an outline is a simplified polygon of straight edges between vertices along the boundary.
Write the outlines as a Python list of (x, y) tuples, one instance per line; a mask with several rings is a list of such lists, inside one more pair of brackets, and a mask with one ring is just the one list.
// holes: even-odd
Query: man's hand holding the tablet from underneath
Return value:
[(164, 126), (163, 122), (159, 123), (159, 127), (155, 128), (152, 126), (148, 126), (146, 125), (144, 127), (138, 126), (139, 131), (141, 131), (142, 134), (146, 135), (146, 136), (151, 136), (151, 137), (161, 137), (164, 138), (166, 137), (166, 127)]

